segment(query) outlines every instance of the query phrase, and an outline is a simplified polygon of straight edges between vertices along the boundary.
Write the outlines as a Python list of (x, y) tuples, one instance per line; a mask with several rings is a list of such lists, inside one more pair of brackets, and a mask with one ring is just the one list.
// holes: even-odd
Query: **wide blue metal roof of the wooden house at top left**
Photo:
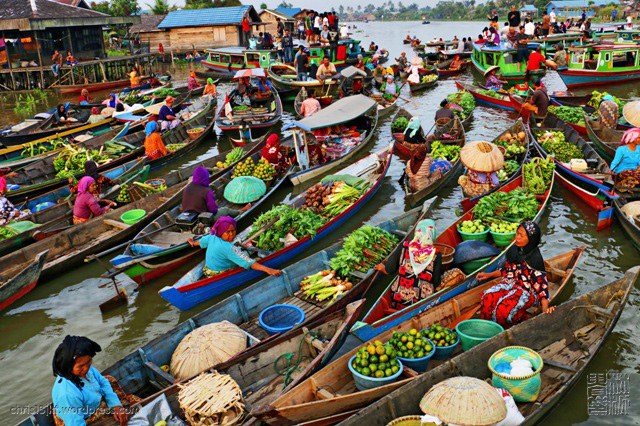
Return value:
[(158, 28), (198, 27), (202, 25), (240, 24), (252, 6), (212, 7), (208, 9), (174, 10)]

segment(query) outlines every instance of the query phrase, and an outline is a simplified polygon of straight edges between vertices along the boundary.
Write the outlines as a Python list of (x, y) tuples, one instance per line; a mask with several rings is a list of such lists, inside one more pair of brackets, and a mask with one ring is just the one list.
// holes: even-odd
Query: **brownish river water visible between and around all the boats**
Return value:
[[(373, 40), (389, 49), (392, 57), (397, 57), (403, 49), (407, 50), (407, 54), (411, 57), (410, 49), (406, 49), (402, 44), (402, 38), (408, 31), (423, 40), (430, 40), (434, 36), (450, 39), (453, 35), (475, 38), (484, 23), (434, 22), (431, 25), (421, 25), (419, 22), (376, 22), (356, 25), (358, 28), (352, 30), (354, 38), (363, 40), (363, 45), (368, 46)], [(474, 78), (478, 78), (478, 75), (469, 71), (460, 77), (466, 82), (471, 82)], [(562, 81), (553, 72), (545, 77), (544, 81), (550, 90), (564, 89)], [(221, 85), (220, 96), (224, 96), (227, 89), (228, 86)], [(434, 89), (415, 97), (411, 96), (405, 88), (403, 97), (407, 101), (399, 103), (404, 104), (405, 108), (419, 116), (428, 129), (433, 123), (433, 116), (440, 100), (455, 90), (453, 80), (442, 80)], [(623, 98), (640, 96), (637, 83), (617, 86), (610, 91)], [(2, 112), (0, 125), (4, 126), (18, 119), (14, 115), (15, 101), (12, 98), (13, 95), (0, 97)], [(40, 106), (44, 109), (44, 104), (55, 105), (57, 102), (58, 99), (49, 96)], [(288, 122), (292, 118), (293, 115), (289, 112), (283, 117), (283, 122)], [(492, 140), (509, 127), (516, 118), (515, 114), (480, 106), (474, 112), (467, 140)], [(391, 142), (391, 121), (392, 117), (379, 123), (371, 149), (382, 148)], [(183, 159), (182, 163), (211, 156), (228, 147), (226, 140), (211, 137), (199, 151), (190, 158)], [(353, 217), (341, 232), (321, 241), (317, 248), (335, 242), (363, 223), (382, 222), (405, 211), (407, 207), (404, 204), (404, 190), (398, 182), (402, 172), (403, 164), (394, 159), (389, 174), (375, 199)], [(290, 186), (281, 189), (262, 206), (260, 211), (267, 210), (289, 197), (291, 193)], [(433, 216), (437, 228), (442, 230), (455, 221), (455, 210), (462, 199), (462, 193), (454, 182), (443, 188), (439, 195), (440, 199), (435, 206)], [(572, 282), (562, 295), (562, 300), (609, 283), (621, 277), (626, 269), (639, 263), (638, 252), (616, 222), (611, 229), (596, 232), (595, 213), (562, 187), (554, 189), (548, 213), (542, 220), (541, 226), (544, 234), (542, 253), (545, 258), (579, 245), (587, 246)], [(305, 255), (308, 254), (309, 252), (305, 253)], [(165, 285), (173, 284), (188, 268), (187, 265), (148, 284), (133, 294), (128, 306), (103, 315), (98, 305), (113, 295), (113, 289), (108, 285), (108, 280), (99, 278), (104, 271), (99, 264), (82, 265), (38, 286), (8, 312), (0, 315), (0, 336), (2, 336), (0, 338), (0, 383), (3, 383), (0, 387), (0, 419), (2, 419), (0, 423), (14, 424), (24, 417), (16, 414), (18, 410), (50, 401), (50, 390), (53, 384), (51, 360), (55, 347), (65, 335), (84, 335), (97, 341), (103, 351), (96, 356), (94, 362), (98, 368), (105, 368), (145, 342), (167, 332), (180, 322), (222, 299), (221, 297), (211, 300), (184, 313), (165, 303), (157, 291)], [(119, 276), (118, 280), (129, 288), (134, 286), (134, 283), (124, 276)], [(380, 285), (367, 294), (368, 305), (375, 300), (382, 289), (383, 285)], [(223, 297), (226, 296), (228, 295), (223, 295)], [(588, 373), (615, 371), (631, 375), (629, 414), (617, 417), (589, 415), (587, 376), (585, 375), (568, 396), (555, 407), (545, 420), (545, 424), (640, 423), (640, 408), (637, 403), (638, 386), (633, 386), (638, 384), (638, 373), (640, 373), (640, 339), (637, 328), (640, 298), (638, 296), (638, 287), (636, 287), (614, 332), (587, 370)], [(540, 332), (543, 333), (544, 330)]]

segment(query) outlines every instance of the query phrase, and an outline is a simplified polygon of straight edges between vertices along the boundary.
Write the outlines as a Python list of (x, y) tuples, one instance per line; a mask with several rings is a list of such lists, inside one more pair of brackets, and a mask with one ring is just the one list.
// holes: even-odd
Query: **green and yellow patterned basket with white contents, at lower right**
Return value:
[[(528, 360), (533, 366), (533, 374), (522, 377), (511, 377), (498, 373), (494, 367), (502, 362), (510, 363), (522, 357)], [(502, 388), (509, 391), (516, 402), (534, 402), (540, 394), (540, 372), (544, 365), (540, 355), (524, 346), (507, 346), (495, 352), (489, 358), (489, 370), (493, 374), (491, 384), (493, 387)]]

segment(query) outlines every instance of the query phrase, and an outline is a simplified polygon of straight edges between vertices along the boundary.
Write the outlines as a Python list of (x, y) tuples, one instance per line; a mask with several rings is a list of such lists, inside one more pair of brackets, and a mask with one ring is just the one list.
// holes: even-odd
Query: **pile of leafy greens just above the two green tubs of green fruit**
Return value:
[(497, 220), (520, 223), (531, 220), (538, 214), (538, 200), (535, 195), (527, 194), (522, 188), (511, 192), (497, 191), (486, 195), (473, 208), (474, 219), (483, 223)]

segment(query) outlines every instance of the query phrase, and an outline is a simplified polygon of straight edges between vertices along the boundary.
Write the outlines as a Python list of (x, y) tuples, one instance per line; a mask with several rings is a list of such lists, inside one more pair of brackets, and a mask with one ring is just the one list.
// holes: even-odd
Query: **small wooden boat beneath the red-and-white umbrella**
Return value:
[[(258, 107), (258, 102), (260, 107)], [(216, 126), (223, 132), (238, 131), (241, 127), (250, 130), (268, 130), (282, 119), (282, 101), (274, 88), (271, 95), (264, 99), (252, 100), (248, 111), (234, 111), (225, 114), (226, 103), (222, 104), (215, 119)]]

